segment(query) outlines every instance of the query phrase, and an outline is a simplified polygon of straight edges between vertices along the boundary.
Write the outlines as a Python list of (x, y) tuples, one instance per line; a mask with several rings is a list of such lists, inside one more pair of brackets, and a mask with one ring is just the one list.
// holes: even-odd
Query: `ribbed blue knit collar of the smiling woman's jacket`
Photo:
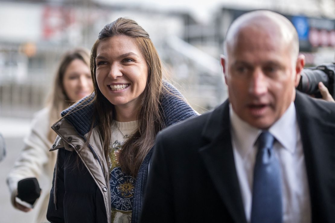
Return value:
[[(197, 115), (174, 86), (165, 81), (163, 85), (172, 93), (164, 95), (160, 102), (163, 109), (165, 126)], [(85, 101), (86, 98), (88, 100)], [(94, 98), (94, 93), (86, 98), (83, 98), (61, 113), (62, 117), (68, 114), (65, 116), (65, 119), (73, 125), (81, 136), (84, 136), (91, 127), (94, 104), (90, 102)], [(82, 104), (79, 105), (80, 103)]]

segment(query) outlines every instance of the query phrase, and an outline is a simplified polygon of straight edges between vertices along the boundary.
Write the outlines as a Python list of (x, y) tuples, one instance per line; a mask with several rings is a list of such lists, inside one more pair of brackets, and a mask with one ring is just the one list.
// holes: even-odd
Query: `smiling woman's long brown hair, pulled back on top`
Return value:
[[(97, 124), (98, 131), (102, 137), (106, 160), (108, 160), (112, 134), (111, 125), (115, 119), (115, 109), (114, 105), (105, 98), (97, 87), (95, 58), (99, 43), (104, 39), (117, 35), (132, 37), (148, 66), (147, 84), (141, 95), (141, 103), (137, 112), (138, 130), (125, 142), (118, 153), (118, 162), (121, 169), (125, 173), (136, 177), (144, 157), (154, 144), (156, 134), (164, 127), (159, 99), (167, 91), (162, 85), (161, 61), (149, 34), (134, 20), (129, 18), (121, 17), (105, 25), (92, 47), (90, 67), (95, 92), (92, 100), (92, 103), (94, 103), (93, 123)], [(92, 129), (93, 125), (90, 133)]]

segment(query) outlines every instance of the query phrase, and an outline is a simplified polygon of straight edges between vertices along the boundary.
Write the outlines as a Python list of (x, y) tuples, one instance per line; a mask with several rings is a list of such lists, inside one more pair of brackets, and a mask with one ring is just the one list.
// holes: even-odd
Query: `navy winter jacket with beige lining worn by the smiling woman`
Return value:
[[(173, 94), (161, 100), (165, 126), (198, 115), (169, 83), (164, 86)], [(88, 104), (93, 95), (88, 96)], [(79, 102), (80, 103), (80, 102)], [(52, 126), (58, 134), (51, 151), (58, 157), (50, 192), (47, 219), (50, 222), (111, 222), (111, 192), (108, 164), (102, 150), (102, 139), (95, 127), (84, 146), (92, 122), (93, 104), (64, 110)], [(138, 222), (152, 149), (144, 158), (136, 177), (132, 205), (132, 222)]]

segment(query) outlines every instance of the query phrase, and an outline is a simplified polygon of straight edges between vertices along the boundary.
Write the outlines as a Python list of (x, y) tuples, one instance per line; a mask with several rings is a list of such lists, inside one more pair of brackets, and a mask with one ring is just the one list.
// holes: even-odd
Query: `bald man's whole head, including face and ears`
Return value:
[(294, 101), (305, 65), (293, 25), (278, 13), (246, 13), (232, 23), (225, 48), (221, 66), (233, 111), (251, 126), (270, 128)]

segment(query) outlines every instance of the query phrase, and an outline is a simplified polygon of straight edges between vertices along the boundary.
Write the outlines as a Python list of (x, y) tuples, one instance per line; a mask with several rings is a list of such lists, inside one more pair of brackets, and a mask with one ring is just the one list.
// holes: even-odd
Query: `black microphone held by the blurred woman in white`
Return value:
[(40, 197), (41, 188), (35, 177), (25, 178), (17, 182), (17, 196), (21, 201), (34, 206)]

